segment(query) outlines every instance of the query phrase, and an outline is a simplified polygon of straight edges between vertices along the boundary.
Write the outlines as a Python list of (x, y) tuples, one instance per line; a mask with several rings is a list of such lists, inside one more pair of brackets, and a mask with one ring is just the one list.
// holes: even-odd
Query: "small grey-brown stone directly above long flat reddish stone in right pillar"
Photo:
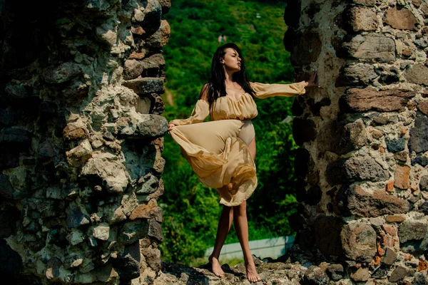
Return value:
[(377, 74), (371, 64), (353, 64), (342, 68), (336, 86), (367, 86), (374, 78), (377, 78)]

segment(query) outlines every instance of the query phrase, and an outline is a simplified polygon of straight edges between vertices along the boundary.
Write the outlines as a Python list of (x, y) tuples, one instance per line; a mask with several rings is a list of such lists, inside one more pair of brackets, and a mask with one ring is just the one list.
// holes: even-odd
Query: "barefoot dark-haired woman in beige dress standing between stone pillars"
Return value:
[[(260, 281), (248, 245), (246, 200), (257, 186), (255, 132), (251, 119), (258, 115), (255, 98), (291, 97), (315, 86), (316, 72), (309, 82), (282, 84), (250, 83), (240, 49), (226, 43), (215, 51), (211, 81), (200, 91), (200, 100), (185, 120), (172, 120), (170, 135), (181, 147), (200, 182), (218, 188), (223, 210), (218, 222), (213, 253), (213, 273), (223, 276), (219, 256), (232, 222), (243, 249), (247, 278)], [(210, 115), (211, 121), (203, 123)]]

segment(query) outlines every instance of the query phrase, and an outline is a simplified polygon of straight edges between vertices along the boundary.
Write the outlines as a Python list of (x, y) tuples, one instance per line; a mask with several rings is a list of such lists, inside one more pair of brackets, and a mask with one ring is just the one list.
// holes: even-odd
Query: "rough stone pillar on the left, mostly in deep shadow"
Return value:
[(147, 284), (158, 274), (169, 8), (0, 1), (2, 279)]

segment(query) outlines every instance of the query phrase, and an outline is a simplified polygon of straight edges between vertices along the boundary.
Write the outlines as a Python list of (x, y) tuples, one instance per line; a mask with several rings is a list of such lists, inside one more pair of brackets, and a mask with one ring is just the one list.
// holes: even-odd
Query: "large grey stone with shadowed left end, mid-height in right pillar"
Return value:
[(384, 170), (372, 157), (350, 157), (339, 159), (327, 165), (327, 181), (331, 185), (345, 184), (353, 181), (370, 180), (372, 182), (384, 181), (389, 173)]

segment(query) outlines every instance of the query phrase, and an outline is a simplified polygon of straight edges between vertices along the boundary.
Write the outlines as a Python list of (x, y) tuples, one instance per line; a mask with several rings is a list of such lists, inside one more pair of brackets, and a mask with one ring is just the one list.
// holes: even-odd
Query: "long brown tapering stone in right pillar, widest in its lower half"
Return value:
[(371, 194), (359, 185), (342, 186), (337, 193), (340, 212), (345, 216), (379, 217), (384, 214), (405, 214), (409, 211), (409, 202), (384, 190), (374, 190)]

